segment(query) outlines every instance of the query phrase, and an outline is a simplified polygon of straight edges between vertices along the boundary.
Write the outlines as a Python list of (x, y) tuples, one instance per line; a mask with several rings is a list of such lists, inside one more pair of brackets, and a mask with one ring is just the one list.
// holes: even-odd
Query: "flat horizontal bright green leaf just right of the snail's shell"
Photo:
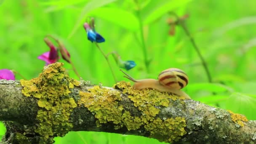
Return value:
[(188, 91), (209, 91), (209, 92), (227, 92), (227, 91), (233, 91), (232, 88), (228, 87), (227, 85), (222, 85), (219, 83), (192, 83), (189, 84), (189, 86), (186, 87)]

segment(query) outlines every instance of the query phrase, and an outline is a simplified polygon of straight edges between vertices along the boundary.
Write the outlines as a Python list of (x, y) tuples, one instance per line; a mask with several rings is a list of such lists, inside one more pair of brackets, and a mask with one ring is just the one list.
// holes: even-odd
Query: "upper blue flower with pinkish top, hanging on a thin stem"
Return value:
[(89, 26), (88, 23), (85, 23), (83, 25), (83, 27), (85, 28), (85, 30), (87, 32), (88, 40), (90, 40), (92, 43), (93, 42), (102, 43), (105, 41), (105, 39), (100, 34), (95, 32), (95, 30), (91, 29), (91, 27)]

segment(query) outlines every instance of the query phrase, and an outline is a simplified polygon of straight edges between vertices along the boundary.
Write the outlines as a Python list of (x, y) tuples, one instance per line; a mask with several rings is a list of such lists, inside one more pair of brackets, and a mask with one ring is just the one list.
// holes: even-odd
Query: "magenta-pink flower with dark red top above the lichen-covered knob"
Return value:
[(37, 57), (37, 59), (45, 61), (45, 65), (53, 64), (59, 59), (57, 48), (55, 48), (55, 46), (47, 38), (45, 38), (44, 41), (49, 46), (50, 51), (41, 54)]

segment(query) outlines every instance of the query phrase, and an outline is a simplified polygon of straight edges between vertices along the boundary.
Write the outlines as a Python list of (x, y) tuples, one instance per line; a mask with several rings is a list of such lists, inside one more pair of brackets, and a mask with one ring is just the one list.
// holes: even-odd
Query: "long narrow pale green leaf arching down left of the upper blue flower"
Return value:
[(74, 28), (72, 31), (69, 33), (68, 39), (72, 37), (72, 35), (75, 34), (77, 29), (83, 24), (83, 21), (85, 21), (86, 16), (88, 15), (89, 12), (93, 11), (96, 8), (99, 8), (101, 6), (107, 5), (109, 3), (112, 3), (116, 0), (91, 0), (88, 2), (84, 7), (82, 12), (80, 13), (79, 18), (77, 19), (77, 22), (75, 23)]

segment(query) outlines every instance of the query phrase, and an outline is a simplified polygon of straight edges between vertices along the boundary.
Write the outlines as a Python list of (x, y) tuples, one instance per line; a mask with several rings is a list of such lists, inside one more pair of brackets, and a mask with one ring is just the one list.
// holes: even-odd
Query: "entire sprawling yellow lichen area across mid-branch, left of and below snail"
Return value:
[(119, 103), (122, 100), (121, 92), (96, 85), (88, 88), (88, 91), (80, 91), (78, 104), (95, 113), (98, 127), (107, 122), (115, 124), (115, 129), (125, 126), (128, 131), (144, 126), (151, 137), (166, 142), (177, 141), (180, 136), (186, 134), (184, 117), (169, 118), (164, 121), (156, 118), (160, 107), (170, 107), (170, 99), (175, 101), (185, 99), (184, 97), (151, 89), (134, 90), (130, 83), (125, 82), (117, 83), (114, 87), (127, 94), (141, 113), (134, 115), (123, 109), (123, 105)]

